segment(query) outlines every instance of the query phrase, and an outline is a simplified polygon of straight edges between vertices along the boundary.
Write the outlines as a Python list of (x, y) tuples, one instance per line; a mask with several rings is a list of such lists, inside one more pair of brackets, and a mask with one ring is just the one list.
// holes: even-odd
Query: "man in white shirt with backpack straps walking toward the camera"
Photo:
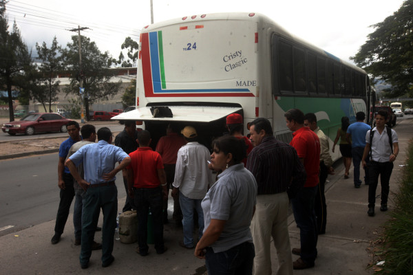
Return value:
[[(389, 181), (392, 175), (393, 162), (399, 154), (399, 140), (396, 131), (385, 127), (388, 120), (386, 111), (379, 111), (376, 115), (376, 126), (366, 133), (366, 148), (364, 148), (361, 162), (363, 167), (368, 165), (369, 186), (368, 186), (368, 212), (370, 217), (374, 216), (374, 203), (376, 201), (376, 189), (381, 182), (381, 211), (387, 211), (388, 196), (390, 191)], [(390, 132), (390, 133), (389, 133)], [(370, 163), (366, 164), (366, 159), (370, 158)]]

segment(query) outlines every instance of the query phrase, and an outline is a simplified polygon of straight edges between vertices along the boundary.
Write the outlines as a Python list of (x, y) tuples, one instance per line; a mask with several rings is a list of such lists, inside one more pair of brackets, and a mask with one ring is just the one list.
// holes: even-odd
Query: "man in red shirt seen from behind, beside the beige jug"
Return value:
[(162, 205), (167, 199), (167, 179), (159, 153), (152, 151), (149, 131), (138, 133), (139, 148), (129, 154), (131, 163), (127, 166), (129, 196), (134, 199), (138, 214), (138, 248), (140, 256), (147, 256), (147, 220), (149, 207), (153, 220), (153, 235), (156, 253), (167, 250), (163, 240)]

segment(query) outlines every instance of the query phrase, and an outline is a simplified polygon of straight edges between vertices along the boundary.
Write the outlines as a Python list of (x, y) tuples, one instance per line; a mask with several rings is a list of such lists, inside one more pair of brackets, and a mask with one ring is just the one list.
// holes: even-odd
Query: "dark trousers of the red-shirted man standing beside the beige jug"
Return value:
[(162, 189), (156, 188), (134, 188), (135, 207), (138, 214), (138, 246), (140, 254), (148, 252), (148, 212), (151, 208), (153, 221), (153, 237), (155, 239), (155, 250), (164, 250), (163, 221), (162, 221)]

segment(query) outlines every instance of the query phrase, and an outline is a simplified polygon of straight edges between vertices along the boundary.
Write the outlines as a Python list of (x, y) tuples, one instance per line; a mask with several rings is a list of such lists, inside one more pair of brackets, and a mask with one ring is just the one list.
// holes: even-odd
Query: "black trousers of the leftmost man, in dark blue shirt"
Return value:
[(59, 202), (59, 209), (56, 215), (56, 225), (54, 225), (54, 232), (63, 234), (65, 229), (67, 217), (69, 216), (70, 206), (74, 198), (73, 177), (70, 174), (63, 173), (63, 181), (65, 181), (65, 189), (61, 189)]

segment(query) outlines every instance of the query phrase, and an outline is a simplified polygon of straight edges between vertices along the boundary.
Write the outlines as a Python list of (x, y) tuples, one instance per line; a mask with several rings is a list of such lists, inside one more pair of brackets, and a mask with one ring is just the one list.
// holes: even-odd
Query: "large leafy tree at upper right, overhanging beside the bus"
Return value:
[(392, 16), (372, 27), (376, 30), (350, 59), (392, 85), (386, 96), (413, 96), (413, 0), (403, 2)]

